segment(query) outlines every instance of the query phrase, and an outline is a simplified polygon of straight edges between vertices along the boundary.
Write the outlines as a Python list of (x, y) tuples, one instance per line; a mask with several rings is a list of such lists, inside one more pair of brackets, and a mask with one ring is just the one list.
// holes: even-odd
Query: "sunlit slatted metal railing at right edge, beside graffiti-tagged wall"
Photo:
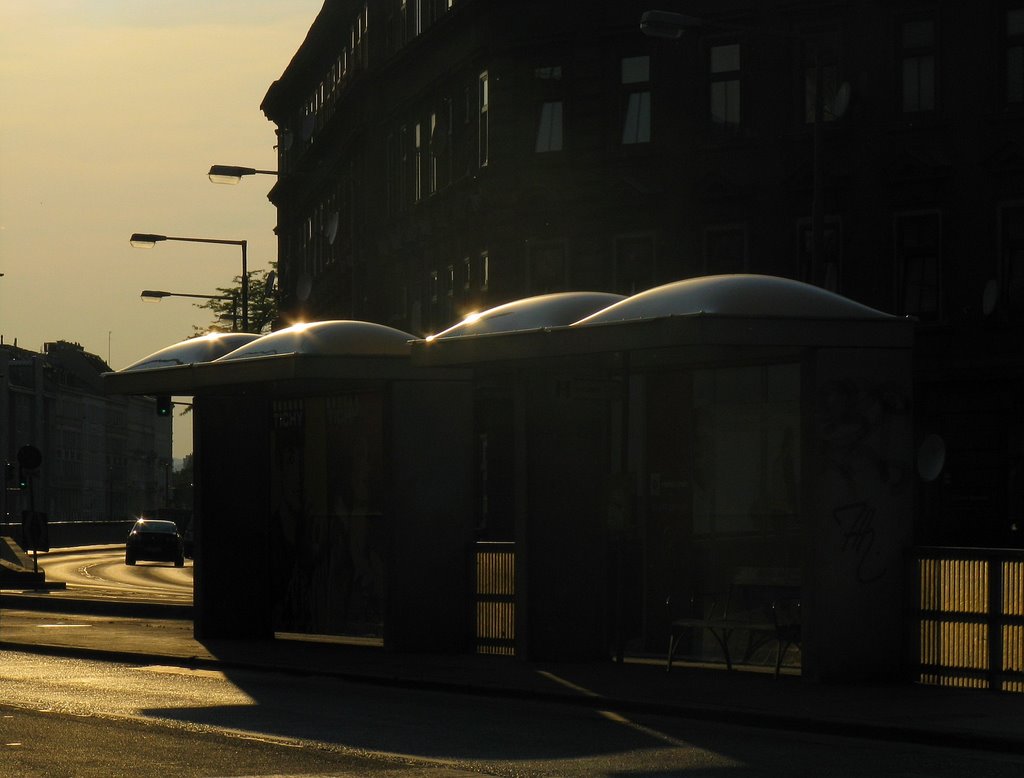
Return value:
[(1024, 692), (1024, 551), (912, 554), (919, 683)]

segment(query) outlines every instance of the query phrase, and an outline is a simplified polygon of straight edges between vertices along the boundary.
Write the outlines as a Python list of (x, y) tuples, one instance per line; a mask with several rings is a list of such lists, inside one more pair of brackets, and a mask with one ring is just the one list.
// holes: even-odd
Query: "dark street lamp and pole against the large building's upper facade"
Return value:
[[(640, 15), (640, 32), (649, 38), (679, 40), (690, 28), (703, 27), (703, 19), (672, 11), (644, 11)], [(769, 33), (771, 34), (771, 33)], [(776, 34), (777, 35), (777, 34)], [(785, 36), (809, 43), (814, 50), (814, 123), (811, 128), (811, 269), (808, 277), (814, 282), (814, 273), (824, 260), (824, 201), (821, 166), (821, 127), (824, 124), (824, 95), (821, 68), (821, 46), (814, 38), (807, 36)], [(825, 273), (826, 287), (834, 286), (835, 279)]]

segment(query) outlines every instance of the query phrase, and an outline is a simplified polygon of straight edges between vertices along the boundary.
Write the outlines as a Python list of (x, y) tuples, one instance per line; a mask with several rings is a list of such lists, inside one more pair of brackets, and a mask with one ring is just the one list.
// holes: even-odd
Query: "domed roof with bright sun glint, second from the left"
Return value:
[(293, 325), (231, 351), (218, 362), (283, 354), (407, 356), (416, 336), (372, 321), (337, 320)]

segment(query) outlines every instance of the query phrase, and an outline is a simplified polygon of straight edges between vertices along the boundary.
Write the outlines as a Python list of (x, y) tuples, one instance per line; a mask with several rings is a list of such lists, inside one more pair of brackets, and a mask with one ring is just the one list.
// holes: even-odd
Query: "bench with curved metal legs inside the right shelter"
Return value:
[[(732, 669), (733, 651), (740, 648), (740, 660), (748, 660), (760, 647), (774, 642), (775, 676), (790, 646), (800, 647), (801, 572), (793, 567), (737, 567), (724, 593), (694, 596), (689, 615), (669, 609), (669, 655), (666, 672), (672, 671), (680, 641), (692, 631), (712, 635)], [(735, 644), (739, 643), (739, 646)]]

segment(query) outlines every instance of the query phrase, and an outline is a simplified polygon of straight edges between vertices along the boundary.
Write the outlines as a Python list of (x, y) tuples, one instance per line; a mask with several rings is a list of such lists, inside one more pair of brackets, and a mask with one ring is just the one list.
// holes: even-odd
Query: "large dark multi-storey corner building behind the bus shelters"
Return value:
[(919, 321), (915, 539), (1024, 545), (1024, 2), (653, 5), (700, 23), (327, 0), (262, 103), (283, 318), (815, 284)]

